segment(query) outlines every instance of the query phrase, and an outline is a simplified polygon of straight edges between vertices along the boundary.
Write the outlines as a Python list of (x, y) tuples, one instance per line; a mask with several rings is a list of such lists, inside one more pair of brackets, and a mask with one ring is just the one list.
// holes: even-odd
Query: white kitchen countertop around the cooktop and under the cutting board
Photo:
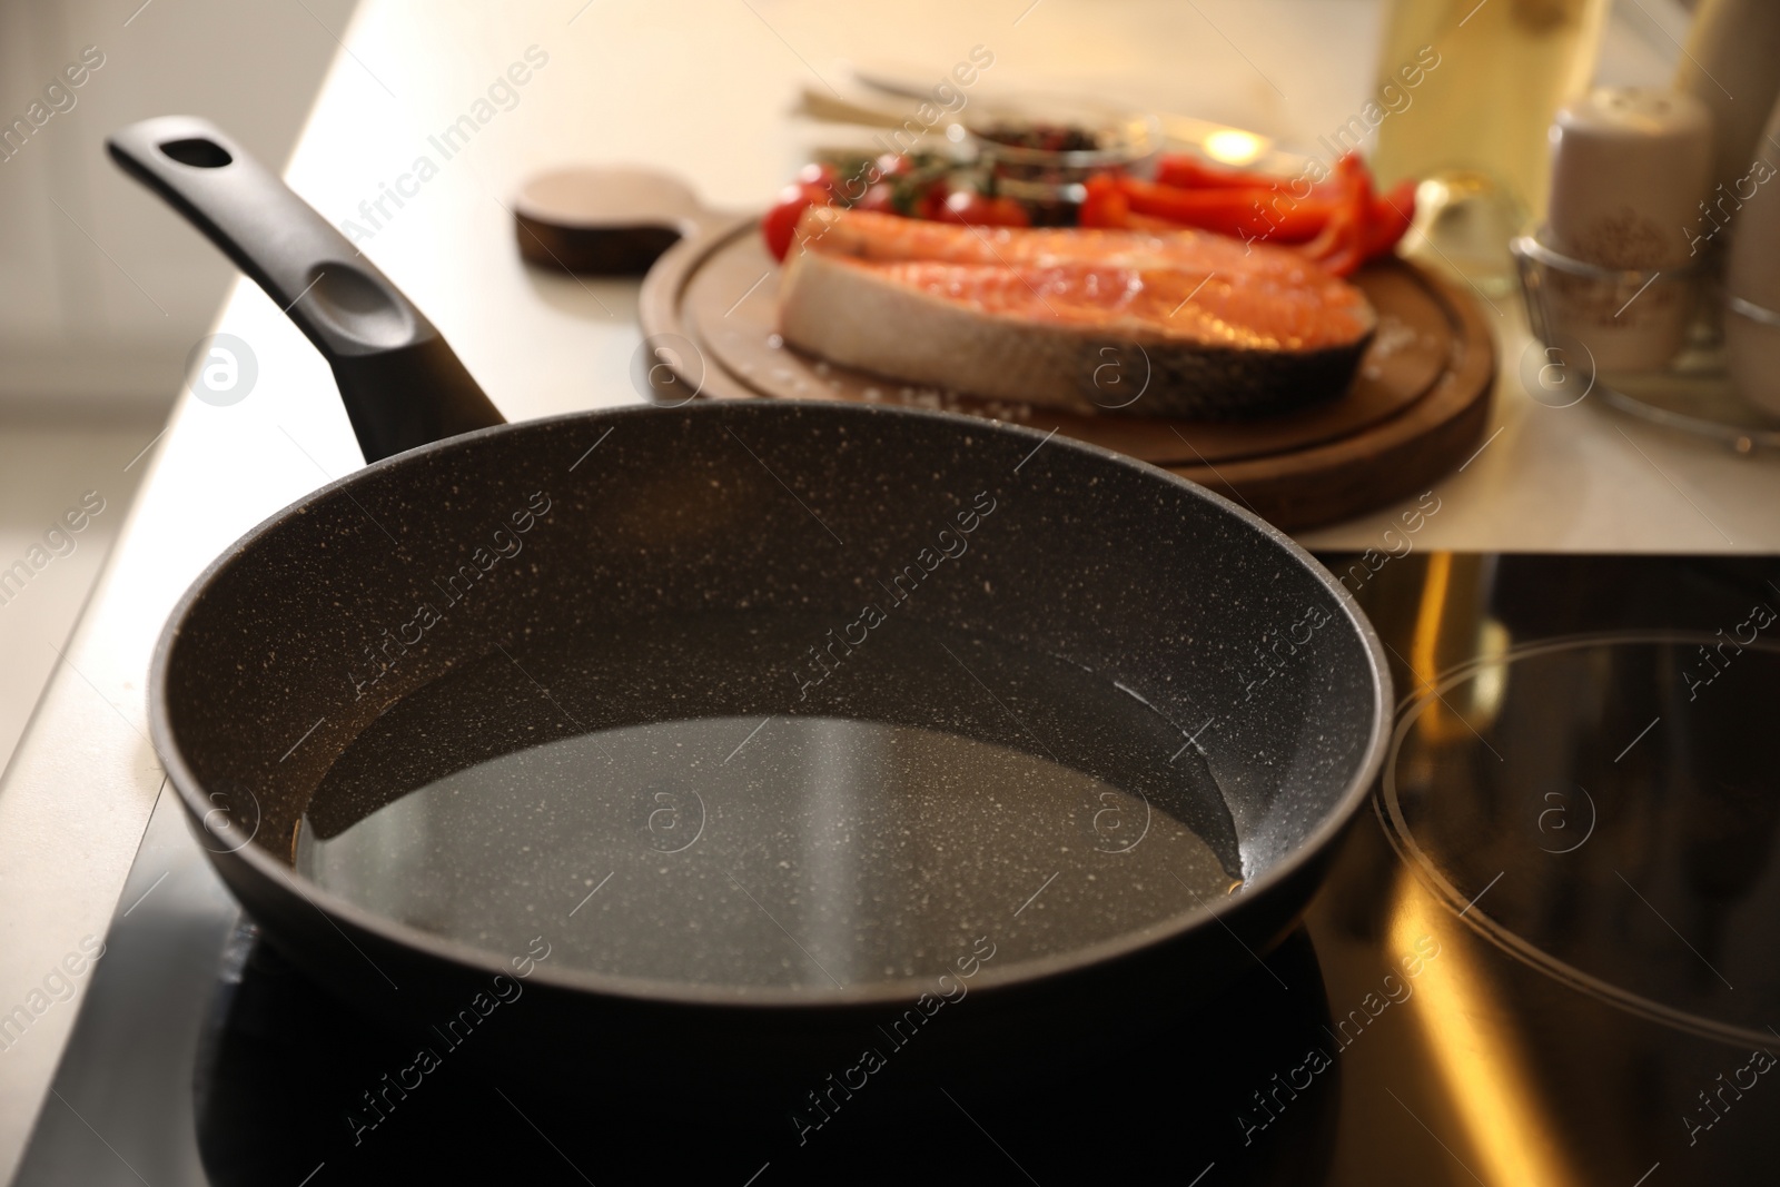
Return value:
[[(968, 11), (940, 0), (562, 0), (498, 11), (368, 0), (342, 34), (345, 50), (288, 178), (331, 221), (358, 217), (360, 203), (417, 157), (438, 162), (427, 137), (529, 46), (548, 55), (516, 103), (438, 162), (438, 174), (361, 244), (507, 418), (522, 420), (635, 400), (628, 361), (641, 340), (634, 283), (520, 263), (504, 203), (536, 171), (644, 164), (678, 173), (714, 205), (758, 206), (810, 141), (787, 119), (805, 84), (838, 77), (847, 55), (911, 62), (938, 78), (975, 44), (997, 55), (991, 75), (1007, 89), (1104, 91), (1303, 133), (1362, 101), (1376, 32), (1376, 5), (1365, 0), (1018, 0)], [(228, 126), (226, 110), (199, 114)], [(173, 215), (166, 228), (190, 251), (212, 251)], [(1534, 404), (1517, 379), (1527, 342), (1517, 319), (1504, 311), (1499, 322), (1495, 436), (1436, 486), (1442, 509), (1419, 548), (1780, 550), (1780, 459), (1736, 457), (1591, 400)], [(0, 1013), (27, 1002), (64, 954), (103, 936), (123, 909), (119, 888), (162, 781), (144, 737), (144, 680), (171, 605), (237, 536), (361, 464), (326, 365), (269, 299), (239, 285), (219, 329), (251, 345), (258, 384), (231, 408), (183, 397), (137, 463), (150, 468), (142, 493), (0, 783)], [(1303, 539), (1367, 548), (1390, 518), (1387, 509)], [(53, 1002), (0, 1052), (0, 1180), (12, 1173), (77, 1009), (78, 997)]]

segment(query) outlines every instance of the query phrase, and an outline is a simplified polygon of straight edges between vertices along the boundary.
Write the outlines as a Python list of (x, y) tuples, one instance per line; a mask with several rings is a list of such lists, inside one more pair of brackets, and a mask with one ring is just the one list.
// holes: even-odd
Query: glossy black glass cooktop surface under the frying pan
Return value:
[(422, 1054), (258, 941), (164, 792), (18, 1182), (1775, 1182), (1780, 561), (1324, 561), (1392, 655), (1390, 762), (1216, 1000), (801, 1112), (514, 1057), (518, 1000)]

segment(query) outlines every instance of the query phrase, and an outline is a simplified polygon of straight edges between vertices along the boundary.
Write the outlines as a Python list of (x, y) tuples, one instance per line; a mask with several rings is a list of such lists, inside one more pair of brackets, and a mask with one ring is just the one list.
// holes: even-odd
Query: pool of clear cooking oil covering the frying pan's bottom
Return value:
[[(507, 648), (395, 705), (295, 865), (491, 952), (847, 986), (1111, 940), (1239, 879), (1216, 781), (1109, 676), (981, 635), (707, 616)], [(858, 637), (856, 634), (853, 637)], [(812, 650), (822, 644), (826, 650)]]

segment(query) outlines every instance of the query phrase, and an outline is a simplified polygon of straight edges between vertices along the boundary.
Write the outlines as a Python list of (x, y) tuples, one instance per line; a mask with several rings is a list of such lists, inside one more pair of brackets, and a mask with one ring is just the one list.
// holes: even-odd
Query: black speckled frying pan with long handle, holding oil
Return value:
[[(1105, 1043), (1109, 1011), (1200, 1002), (1294, 927), (1380, 769), (1392, 698), (1371, 625), (1257, 516), (1102, 448), (901, 408), (692, 400), (509, 425), (420, 311), (215, 126), (150, 119), (109, 148), (287, 308), (370, 463), (198, 578), (150, 692), (210, 861), (326, 989), (443, 1043), (516, 986), (520, 1050), (758, 1077), (888, 1043), (936, 993), (947, 1039), (929, 1052)], [(862, 641), (879, 602), (890, 621)], [(762, 614), (810, 634), (748, 626)], [(924, 639), (956, 667), (908, 667), (938, 657)], [(1079, 715), (1082, 682), (1141, 717), (1143, 746)], [(1024, 783), (991, 794), (968, 755), (954, 767), (951, 742), (894, 804), (869, 787), (885, 749), (853, 756), (862, 785), (769, 771), (726, 794), (627, 787), (621, 755), (587, 749), (651, 723), (708, 726), (707, 744), (730, 730), (728, 758), (698, 760), (730, 778), (739, 755), (783, 755), (774, 733), (904, 726), (926, 746), (929, 696), (1022, 771), (1146, 774), (1050, 819), (1002, 803)], [(755, 719), (760, 740), (740, 739)], [(550, 767), (564, 746), (575, 762)], [(402, 815), (434, 803), (417, 788), (514, 755), (536, 778), (482, 817)], [(1210, 801), (1166, 790), (1189, 769)], [(545, 813), (552, 779), (580, 790)], [(361, 856), (356, 883), (304, 865), (377, 820), (400, 844)], [(1041, 858), (1013, 854), (1027, 833)], [(1228, 899), (1171, 865), (1187, 833), (1221, 845)], [(548, 876), (504, 883), (497, 851)], [(817, 883), (842, 902), (812, 902)], [(908, 940), (901, 913), (929, 893), (968, 916), (942, 920), (954, 947)], [(463, 924), (465, 902), (500, 925)]]

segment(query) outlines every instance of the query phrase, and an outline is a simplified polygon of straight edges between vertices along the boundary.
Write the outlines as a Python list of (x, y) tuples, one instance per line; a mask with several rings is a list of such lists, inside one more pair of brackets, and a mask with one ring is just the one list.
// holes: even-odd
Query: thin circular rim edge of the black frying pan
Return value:
[[(708, 411), (692, 411), (708, 409)], [(219, 577), (226, 568), (242, 561), (244, 555), (258, 543), (262, 537), (272, 534), (279, 525), (283, 525), (290, 516), (301, 514), (303, 509), (315, 505), (317, 502), (335, 495), (336, 491), (349, 491), (354, 484), (370, 482), (376, 475), (383, 475), (393, 468), (413, 464), (418, 459), (431, 457), (434, 454), (473, 447), (484, 438), (500, 436), (507, 432), (523, 432), (539, 429), (545, 425), (570, 424), (570, 422), (587, 422), (587, 420), (607, 420), (607, 418), (630, 418), (630, 416), (650, 416), (657, 413), (692, 413), (692, 415), (755, 415), (758, 409), (781, 409), (773, 415), (817, 415), (817, 416), (837, 416), (842, 420), (867, 420), (870, 416), (892, 416), (892, 418), (913, 418), (926, 422), (940, 422), (945, 425), (956, 425), (959, 429), (974, 429), (977, 432), (993, 434), (1011, 434), (1015, 438), (1025, 438), (1034, 445), (1043, 445), (1050, 441), (1056, 448), (1077, 450), (1093, 457), (1100, 464), (1111, 464), (1118, 468), (1127, 468), (1141, 473), (1150, 480), (1162, 480), (1184, 491), (1189, 497), (1200, 498), (1210, 504), (1214, 509), (1234, 516), (1237, 521), (1257, 530), (1262, 537), (1278, 546), (1285, 557), (1296, 561), (1312, 578), (1315, 578), (1330, 594), (1335, 603), (1340, 605), (1346, 614), (1346, 621), (1355, 630), (1362, 642), (1367, 666), (1372, 674), (1372, 726), (1363, 746), (1362, 758), (1349, 778), (1342, 792), (1335, 797), (1333, 804), (1321, 813), (1317, 826), (1305, 835), (1305, 838), (1294, 845), (1287, 854), (1276, 861), (1266, 865), (1255, 877), (1246, 879), (1242, 895), (1232, 899), (1228, 904), (1218, 906), (1194, 906), (1187, 911), (1178, 911), (1166, 915), (1161, 920), (1134, 931), (1125, 931), (1111, 938), (1098, 940), (1095, 943), (1070, 947), (1063, 952), (1054, 952), (1041, 957), (1032, 957), (1020, 961), (1016, 965), (1002, 966), (983, 966), (979, 968), (972, 989), (1013, 989), (1018, 986), (1031, 986), (1034, 982), (1048, 981), (1054, 977), (1063, 977), (1070, 973), (1091, 973), (1096, 966), (1107, 966), (1125, 957), (1136, 957), (1146, 950), (1161, 949), (1169, 943), (1182, 940), (1187, 934), (1196, 933), (1212, 922), (1223, 924), (1232, 911), (1241, 911), (1248, 902), (1258, 902), (1276, 892), (1280, 886), (1290, 883), (1298, 877), (1305, 867), (1319, 861), (1324, 852), (1333, 847), (1347, 826), (1355, 820), (1360, 810), (1371, 797), (1372, 785), (1378, 781), (1383, 771), (1385, 753), (1390, 746), (1390, 733), (1394, 723), (1394, 694), (1390, 667), (1385, 660), (1385, 648), (1372, 628), (1372, 623), (1360, 610), (1358, 602), (1353, 594), (1330, 573), (1315, 557), (1310, 555), (1298, 541), (1276, 529), (1274, 525), (1262, 520), (1253, 511), (1210, 491), (1203, 486), (1189, 482), (1161, 466), (1127, 457), (1114, 450), (1093, 445), (1088, 441), (1079, 441), (1073, 438), (1063, 438), (1061, 434), (1045, 434), (1025, 425), (1016, 425), (1009, 422), (984, 422), (974, 416), (963, 416), (958, 413), (902, 408), (902, 406), (872, 406), (872, 404), (838, 404), (838, 402), (785, 402), (773, 399), (746, 399), (746, 400), (694, 400), (685, 406), (676, 406), (664, 409), (653, 404), (619, 404), (607, 408), (591, 408), (571, 413), (557, 413), (552, 416), (538, 416), (530, 420), (507, 422), (500, 425), (490, 425), (484, 429), (473, 429), (470, 432), (461, 432), (440, 441), (431, 441), (427, 445), (393, 454), (390, 457), (365, 464), (352, 473), (340, 479), (326, 482), (313, 491), (295, 498), (294, 502), (279, 507), (265, 520), (244, 532), (235, 543), (224, 548), (205, 569), (192, 580), (180, 600), (174, 603), (173, 610), (167, 614), (167, 621), (160, 630), (160, 637), (155, 641), (155, 651), (150, 664), (148, 680), (148, 724), (150, 740), (160, 758), (162, 767), (167, 772), (174, 792), (180, 797), (180, 804), (185, 808), (187, 822), (194, 828), (203, 828), (203, 819), (210, 812), (210, 803), (203, 794), (203, 781), (192, 772), (185, 762), (185, 755), (174, 737), (173, 724), (167, 717), (167, 678), (173, 657), (173, 648), (176, 646), (180, 635), (183, 634), (185, 619), (190, 616), (194, 605), (208, 591), (215, 577)], [(1056, 440), (1052, 440), (1056, 436)], [(450, 940), (411, 924), (379, 915), (367, 908), (361, 908), (340, 895), (324, 890), (320, 884), (299, 874), (295, 868), (279, 861), (272, 852), (256, 845), (244, 844), (239, 849), (228, 852), (208, 851), (206, 856), (219, 874), (222, 872), (224, 858), (235, 858), (251, 870), (251, 874), (265, 883), (271, 883), (287, 899), (306, 899), (315, 909), (319, 909), (329, 922), (349, 924), (361, 933), (372, 934), (386, 943), (393, 943), (399, 949), (417, 952), (433, 961), (445, 961), (456, 965), (463, 970), (493, 975), (511, 975), (511, 959), (493, 952), (490, 949), (481, 949), (457, 940)], [(226, 877), (224, 877), (226, 881)], [(231, 892), (233, 893), (233, 892)], [(1301, 908), (1292, 911), (1296, 918)], [(514, 957), (516, 959), (516, 957)], [(1257, 957), (1258, 959), (1258, 957)], [(940, 975), (940, 973), (934, 973)], [(538, 979), (552, 989), (564, 993), (573, 993), (589, 1000), (625, 1000), (639, 1005), (655, 1007), (707, 1007), (707, 1009), (753, 1009), (760, 1013), (773, 1011), (844, 1011), (862, 1005), (913, 1005), (922, 993), (922, 988), (931, 977), (908, 977), (897, 981), (872, 981), (872, 982), (853, 982), (842, 988), (829, 986), (735, 986), (735, 984), (698, 984), (682, 981), (650, 981), (643, 977), (623, 977), (614, 973), (600, 973), (584, 968), (568, 966), (550, 966), (538, 963), (530, 973), (530, 979)]]

